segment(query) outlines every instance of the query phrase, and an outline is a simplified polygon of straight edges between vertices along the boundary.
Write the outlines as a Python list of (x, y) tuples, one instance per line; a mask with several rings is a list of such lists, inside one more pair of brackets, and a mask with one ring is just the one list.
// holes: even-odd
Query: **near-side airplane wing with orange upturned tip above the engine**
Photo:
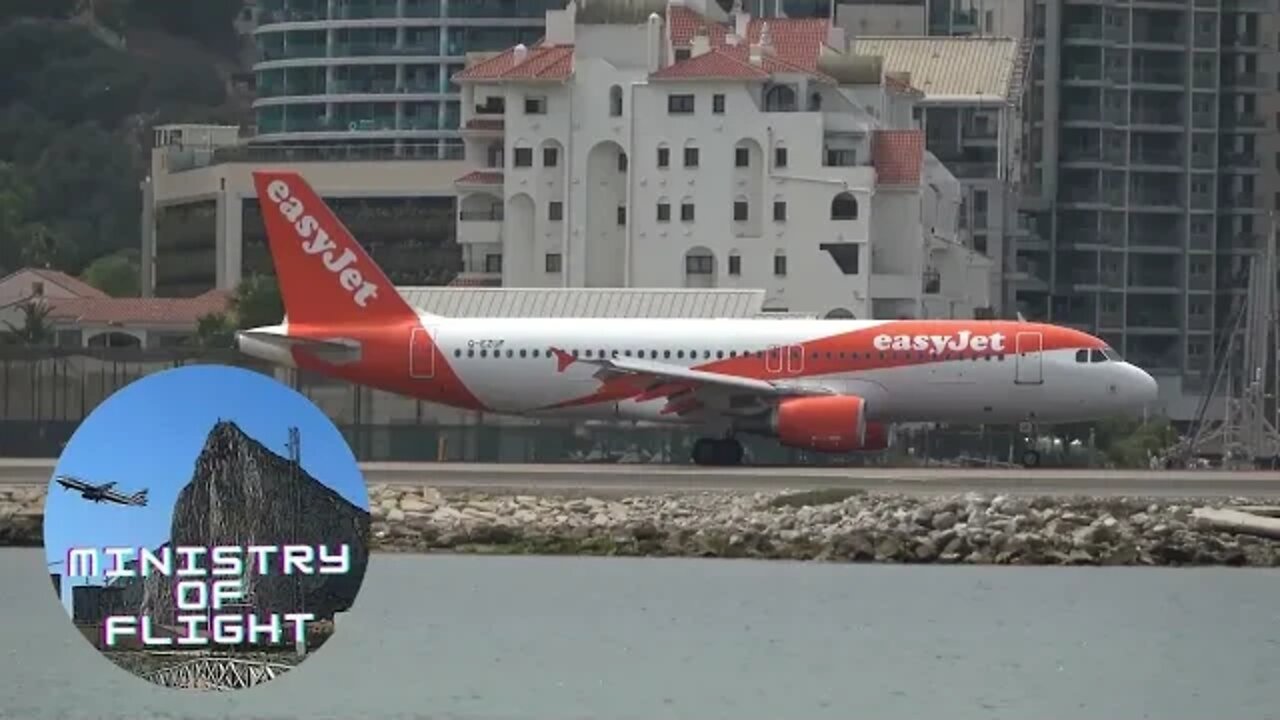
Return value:
[(730, 406), (758, 407), (782, 397), (836, 395), (835, 389), (812, 383), (746, 378), (635, 357), (588, 359), (573, 357), (563, 350), (554, 352), (561, 369), (575, 363), (599, 368), (595, 377), (604, 382), (602, 393), (614, 400), (666, 398), (666, 414), (689, 415), (703, 410), (728, 410)]

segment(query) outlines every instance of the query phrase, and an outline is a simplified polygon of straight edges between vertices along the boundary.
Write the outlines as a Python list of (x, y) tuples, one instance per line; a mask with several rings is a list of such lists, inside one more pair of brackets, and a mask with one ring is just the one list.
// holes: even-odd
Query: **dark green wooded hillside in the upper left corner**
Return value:
[(138, 183), (160, 123), (243, 123), (242, 0), (0, 3), (0, 275), (134, 295)]

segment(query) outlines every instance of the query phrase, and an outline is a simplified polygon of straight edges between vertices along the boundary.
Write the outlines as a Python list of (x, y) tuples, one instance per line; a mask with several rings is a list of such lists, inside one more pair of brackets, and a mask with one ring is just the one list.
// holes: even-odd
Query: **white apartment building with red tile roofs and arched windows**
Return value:
[(517, 287), (764, 288), (765, 309), (963, 318), (991, 260), (924, 150), (923, 94), (829, 19), (571, 3), (472, 64), (465, 269)]

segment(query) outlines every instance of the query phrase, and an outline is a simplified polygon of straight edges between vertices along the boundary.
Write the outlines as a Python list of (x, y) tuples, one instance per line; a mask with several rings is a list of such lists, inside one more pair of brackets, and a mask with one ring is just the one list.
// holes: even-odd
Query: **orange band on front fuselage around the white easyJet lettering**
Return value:
[[(780, 320), (760, 322), (777, 323)], [(956, 341), (965, 337), (961, 336), (961, 333), (968, 333), (969, 338), (988, 338), (986, 347), (979, 350), (970, 343), (964, 350), (943, 347), (941, 352), (937, 351), (934, 341), (948, 341), (945, 345), (951, 346)], [(695, 370), (735, 375), (740, 378), (799, 379), (818, 375), (931, 365), (948, 360), (1014, 355), (1018, 350), (1018, 336), (1027, 333), (1033, 336), (1039, 334), (1041, 346), (1034, 348), (1034, 346), (1028, 345), (1024, 350), (1030, 348), (1042, 352), (1051, 352), (1055, 350), (1101, 348), (1106, 345), (1101, 340), (1073, 328), (1039, 323), (1010, 320), (892, 320), (876, 327), (847, 333), (818, 337), (809, 341), (797, 341), (771, 351), (763, 351), (753, 355), (740, 355), (737, 357), (717, 359), (690, 366)], [(888, 342), (878, 342), (877, 338), (881, 336), (888, 336), (891, 340)], [(995, 336), (1000, 336), (998, 340), (1002, 341), (998, 350), (992, 347), (991, 338)], [(929, 342), (929, 347), (925, 350), (915, 350), (913, 342), (911, 350), (895, 350), (895, 347), (902, 346), (901, 338), (911, 338), (914, 341), (915, 337), (925, 338)], [(708, 345), (732, 347), (735, 341), (732, 338), (726, 338), (723, 341), (709, 340)], [(884, 347), (883, 350), (882, 346)], [(799, 361), (788, 360), (787, 352), (792, 351), (801, 352), (803, 357), (800, 357)], [(771, 352), (778, 352), (780, 355), (773, 355), (771, 357)], [(778, 365), (781, 365), (781, 370), (769, 369), (771, 366), (777, 368)], [(590, 395), (559, 402), (548, 409), (580, 407), (598, 402), (617, 402), (622, 400), (643, 402), (672, 395), (686, 387), (692, 387), (695, 383), (671, 380), (660, 384), (653, 391), (645, 391), (645, 387), (650, 384), (653, 384), (652, 379), (640, 380), (639, 378), (618, 378), (617, 382), (611, 379)]]

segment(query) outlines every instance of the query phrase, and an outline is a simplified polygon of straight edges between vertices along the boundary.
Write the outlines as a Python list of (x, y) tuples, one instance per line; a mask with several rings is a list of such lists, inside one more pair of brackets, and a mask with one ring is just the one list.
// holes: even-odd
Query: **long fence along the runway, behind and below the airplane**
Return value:
[[(695, 439), (685, 429), (452, 411), (271, 368), (236, 351), (0, 347), (0, 456), (56, 457), (81, 420), (111, 393), (143, 375), (189, 364), (236, 365), (291, 384), (325, 411), (362, 461), (687, 462)], [(1016, 429), (989, 428), (900, 432), (888, 452), (847, 456), (788, 450), (768, 438), (742, 442), (755, 464), (852, 466), (1000, 465), (1015, 462), (1021, 447)]]

